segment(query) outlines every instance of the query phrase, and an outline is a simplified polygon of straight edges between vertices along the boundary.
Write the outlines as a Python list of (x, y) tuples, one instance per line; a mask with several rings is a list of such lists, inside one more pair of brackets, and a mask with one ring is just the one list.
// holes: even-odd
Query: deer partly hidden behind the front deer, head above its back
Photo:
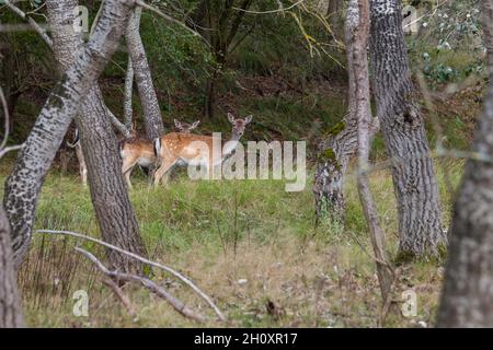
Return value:
[[(196, 120), (193, 124), (187, 124), (174, 119), (174, 125), (182, 133), (190, 133), (199, 122), (199, 120)], [(158, 163), (158, 158), (154, 155), (152, 141), (137, 137), (135, 132), (133, 137), (119, 141), (118, 148), (123, 161), (122, 172), (128, 188), (131, 189), (130, 174), (134, 167), (139, 165), (148, 168)]]

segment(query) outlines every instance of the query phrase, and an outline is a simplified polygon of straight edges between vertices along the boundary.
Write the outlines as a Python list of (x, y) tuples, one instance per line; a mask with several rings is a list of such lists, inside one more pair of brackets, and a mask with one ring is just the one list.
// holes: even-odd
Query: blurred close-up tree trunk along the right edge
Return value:
[(483, 2), (490, 89), (450, 231), (439, 327), (493, 327), (493, 1)]

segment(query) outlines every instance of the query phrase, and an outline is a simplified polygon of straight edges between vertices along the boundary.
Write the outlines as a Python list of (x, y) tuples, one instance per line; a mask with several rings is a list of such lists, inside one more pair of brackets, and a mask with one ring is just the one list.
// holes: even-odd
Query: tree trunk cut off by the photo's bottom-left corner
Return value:
[(15, 275), (10, 224), (0, 205), (0, 328), (24, 326)]

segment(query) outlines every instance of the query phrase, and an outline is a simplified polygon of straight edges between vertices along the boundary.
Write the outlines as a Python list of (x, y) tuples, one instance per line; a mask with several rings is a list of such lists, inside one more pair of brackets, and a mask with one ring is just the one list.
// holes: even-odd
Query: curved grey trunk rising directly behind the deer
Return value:
[(131, 14), (126, 32), (126, 40), (140, 103), (142, 104), (146, 136), (150, 140), (153, 140), (163, 135), (164, 126), (162, 122), (161, 109), (159, 108), (158, 96), (156, 95), (154, 84), (152, 83), (152, 75), (147, 60), (146, 49), (139, 34), (141, 12), (142, 9), (138, 7)]

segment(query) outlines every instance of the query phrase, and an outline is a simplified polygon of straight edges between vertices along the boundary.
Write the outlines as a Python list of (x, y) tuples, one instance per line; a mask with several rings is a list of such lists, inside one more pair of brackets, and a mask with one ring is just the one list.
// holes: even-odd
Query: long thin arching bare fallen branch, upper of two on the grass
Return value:
[(184, 277), (183, 275), (181, 275), (180, 272), (173, 270), (172, 268), (170, 268), (170, 267), (168, 267), (168, 266), (164, 266), (164, 265), (162, 265), (162, 264), (159, 264), (159, 262), (154, 262), (154, 261), (148, 260), (148, 259), (146, 259), (146, 258), (144, 258), (144, 257), (137, 255), (137, 254), (134, 254), (134, 253), (124, 250), (124, 249), (122, 249), (122, 248), (118, 248), (117, 246), (115, 246), (115, 245), (113, 245), (113, 244), (103, 242), (103, 241), (98, 240), (98, 238), (89, 237), (89, 236), (85, 236), (85, 235), (80, 234), (80, 233), (77, 233), (77, 232), (70, 232), (70, 231), (55, 231), (55, 230), (37, 230), (36, 232), (38, 232), (38, 233), (56, 234), (56, 235), (68, 235), (68, 236), (72, 236), (72, 237), (78, 237), (78, 238), (82, 238), (82, 240), (85, 240), (85, 241), (90, 241), (90, 242), (100, 244), (100, 245), (102, 245), (102, 246), (105, 246), (106, 248), (111, 248), (111, 249), (116, 250), (116, 252), (118, 252), (118, 253), (125, 254), (125, 255), (127, 255), (127, 256), (129, 256), (129, 257), (133, 257), (133, 258), (135, 258), (135, 259), (137, 259), (137, 260), (139, 260), (139, 261), (142, 261), (142, 262), (145, 262), (145, 264), (148, 264), (148, 265), (150, 265), (150, 266), (160, 268), (160, 269), (162, 269), (162, 270), (164, 270), (164, 271), (167, 271), (167, 272), (173, 275), (174, 277), (179, 278), (179, 279), (182, 280), (186, 285), (188, 285), (190, 288), (192, 288), (193, 291), (195, 291), (202, 299), (204, 299), (204, 300), (207, 302), (207, 304), (209, 304), (209, 306), (214, 310), (214, 312), (215, 312), (216, 315), (219, 317), (219, 319), (222, 320), (222, 322), (226, 322), (225, 315), (220, 312), (220, 310), (216, 306), (216, 304), (211, 301), (211, 299), (210, 299), (206, 293), (204, 293), (204, 292), (203, 292), (197, 285), (195, 285), (188, 278)]

